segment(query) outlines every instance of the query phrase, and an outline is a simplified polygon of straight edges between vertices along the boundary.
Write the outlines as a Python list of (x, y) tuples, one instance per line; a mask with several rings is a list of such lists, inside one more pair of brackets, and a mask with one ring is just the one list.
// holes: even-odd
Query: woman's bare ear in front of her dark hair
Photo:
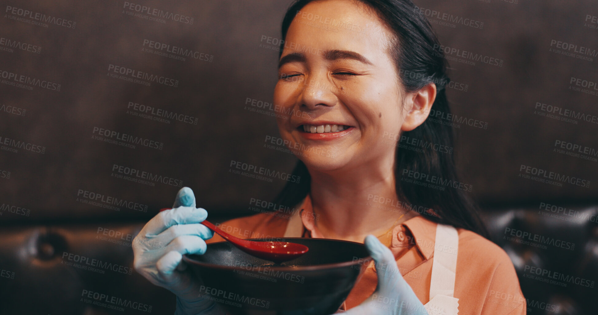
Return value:
[(436, 99), (436, 84), (430, 83), (419, 91), (407, 94), (404, 102), (404, 119), (401, 126), (402, 131), (411, 131), (423, 124), (428, 118), (432, 104)]

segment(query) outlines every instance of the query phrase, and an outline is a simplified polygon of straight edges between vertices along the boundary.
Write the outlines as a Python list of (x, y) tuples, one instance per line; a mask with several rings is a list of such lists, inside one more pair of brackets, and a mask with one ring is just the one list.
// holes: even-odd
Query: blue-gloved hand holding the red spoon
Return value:
[(199, 296), (199, 283), (182, 261), (184, 254), (206, 252), (206, 242), (213, 233), (200, 224), (208, 212), (196, 208), (191, 188), (183, 187), (170, 210), (158, 213), (133, 239), (135, 270), (149, 282), (176, 295), (177, 315), (224, 314), (210, 299)]

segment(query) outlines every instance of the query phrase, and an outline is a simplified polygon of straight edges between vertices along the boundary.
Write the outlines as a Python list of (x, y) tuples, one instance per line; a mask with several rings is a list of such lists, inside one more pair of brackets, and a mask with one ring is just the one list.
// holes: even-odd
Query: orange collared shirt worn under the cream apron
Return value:
[[(312, 212), (309, 195), (291, 213), (258, 213), (231, 219), (219, 227), (240, 238), (276, 240), (284, 236), (293, 215), (301, 217), (303, 237), (322, 237), (316, 227), (318, 217)], [(435, 222), (418, 215), (392, 230), (390, 250), (395, 255), (396, 265), (422, 304), (426, 304), (430, 299), (436, 226)], [(526, 300), (507, 253), (477, 233), (462, 228), (458, 228), (457, 233), (459, 251), (454, 297), (459, 299), (459, 314), (526, 314)], [(222, 240), (222, 237), (215, 234), (206, 243)], [(341, 310), (361, 304), (374, 293), (376, 286), (377, 276), (372, 262), (347, 296)]]

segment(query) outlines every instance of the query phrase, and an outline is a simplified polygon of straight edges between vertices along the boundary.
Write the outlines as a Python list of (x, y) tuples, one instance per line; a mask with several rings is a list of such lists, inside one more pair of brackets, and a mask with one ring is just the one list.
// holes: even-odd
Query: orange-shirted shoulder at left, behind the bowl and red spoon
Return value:
[[(288, 219), (286, 216), (280, 216), (276, 212), (269, 212), (230, 219), (215, 225), (226, 233), (239, 238), (274, 238), (283, 236), (287, 224)], [(214, 234), (206, 243), (223, 240), (218, 234)]]

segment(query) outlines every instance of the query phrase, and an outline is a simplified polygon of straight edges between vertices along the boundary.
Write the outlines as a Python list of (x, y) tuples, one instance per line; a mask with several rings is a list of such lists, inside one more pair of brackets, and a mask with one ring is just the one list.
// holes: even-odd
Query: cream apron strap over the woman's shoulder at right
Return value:
[(459, 234), (450, 225), (438, 224), (432, 258), (430, 301), (423, 305), (429, 315), (459, 313), (459, 299), (454, 295), (454, 276), (457, 269)]

